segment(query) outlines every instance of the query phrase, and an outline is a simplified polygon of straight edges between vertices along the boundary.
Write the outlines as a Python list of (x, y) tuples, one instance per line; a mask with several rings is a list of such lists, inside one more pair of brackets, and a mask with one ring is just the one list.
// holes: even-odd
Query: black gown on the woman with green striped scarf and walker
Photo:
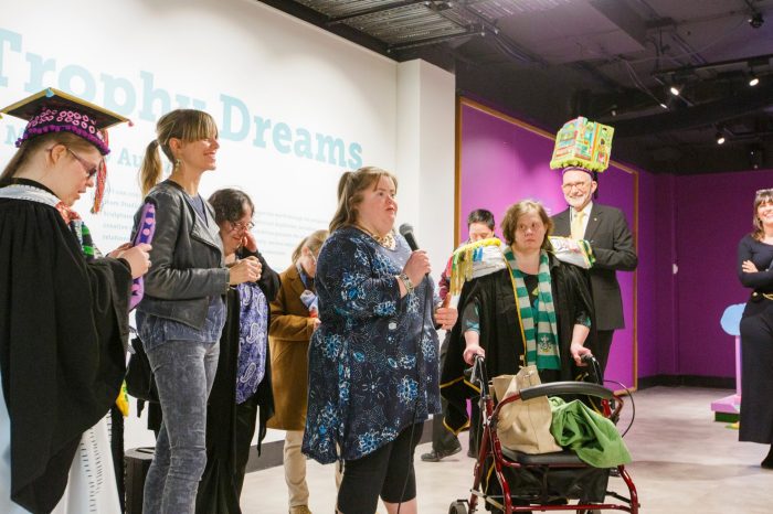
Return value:
[[(587, 313), (593, 320), (593, 301), (587, 288), (587, 278), (581, 268), (561, 263), (552, 254), (549, 254), (549, 258), (562, 363), (559, 376), (562, 381), (572, 381), (578, 375), (578, 368), (570, 353), (574, 322), (580, 312)], [(502, 269), (465, 283), (459, 297), (459, 312), (464, 312), (465, 307), (474, 300), (477, 300), (480, 306), (479, 344), (486, 351), (486, 370), (489, 378), (515, 375), (521, 367), (520, 358), (525, 355), (525, 344), (510, 271)], [(468, 422), (466, 399), (478, 395), (478, 390), (464, 376), (468, 365), (463, 360), (465, 340), (462, 324), (456, 323), (451, 332), (448, 353), (441, 372), (441, 394), (448, 400), (445, 424), (455, 432), (465, 428)], [(594, 344), (595, 330), (591, 328), (585, 346), (593, 351)]]

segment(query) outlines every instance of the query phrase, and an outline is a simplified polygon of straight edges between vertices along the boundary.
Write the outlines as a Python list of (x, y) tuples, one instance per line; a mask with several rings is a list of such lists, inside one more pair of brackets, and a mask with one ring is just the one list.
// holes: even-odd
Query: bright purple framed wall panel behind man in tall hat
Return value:
[[(459, 113), (459, 240), (467, 237), (466, 216), (475, 208), (488, 208), (497, 223), (507, 207), (527, 197), (542, 202), (551, 214), (566, 208), (561, 174), (549, 168), (552, 136), (470, 104), (463, 104)], [(635, 231), (636, 174), (611, 167), (600, 182), (599, 201), (623, 210)], [(615, 333), (607, 376), (633, 385), (634, 274), (621, 272), (618, 279), (626, 329)]]

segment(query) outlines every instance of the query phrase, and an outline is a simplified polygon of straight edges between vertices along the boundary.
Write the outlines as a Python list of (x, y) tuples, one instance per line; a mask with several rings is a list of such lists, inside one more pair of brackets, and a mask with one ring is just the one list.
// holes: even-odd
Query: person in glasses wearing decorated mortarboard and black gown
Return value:
[(103, 258), (72, 207), (95, 185), (98, 207), (123, 118), (54, 89), (0, 113), (28, 121), (0, 174), (0, 512), (117, 514), (105, 415), (150, 247)]

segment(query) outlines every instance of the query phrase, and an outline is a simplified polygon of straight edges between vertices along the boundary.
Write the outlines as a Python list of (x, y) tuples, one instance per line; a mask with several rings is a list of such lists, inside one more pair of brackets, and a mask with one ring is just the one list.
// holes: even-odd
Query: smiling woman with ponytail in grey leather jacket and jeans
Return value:
[[(137, 306), (137, 328), (156, 377), (163, 421), (145, 481), (142, 512), (192, 513), (207, 463), (207, 397), (218, 367), (230, 286), (254, 282), (260, 264), (227, 268), (220, 227), (199, 194), (214, 170), (218, 127), (207, 113), (177, 109), (156, 125), (140, 168), (146, 202), (156, 206), (151, 271)], [(159, 183), (159, 149), (172, 163)], [(135, 225), (140, 222), (137, 213)]]

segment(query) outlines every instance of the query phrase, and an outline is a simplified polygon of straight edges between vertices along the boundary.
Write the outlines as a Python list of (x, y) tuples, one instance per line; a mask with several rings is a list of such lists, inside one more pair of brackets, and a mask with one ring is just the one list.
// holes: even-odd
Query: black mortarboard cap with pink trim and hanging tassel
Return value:
[[(71, 132), (94, 144), (99, 153), (110, 152), (107, 140), (108, 127), (129, 121), (119, 114), (107, 110), (98, 105), (83, 100), (52, 87), (35, 93), (15, 104), (0, 109), (7, 114), (27, 120), (24, 133), (17, 139), (17, 148), (24, 141), (38, 136), (53, 132)], [(131, 121), (129, 121), (131, 125)], [(92, 212), (98, 212), (105, 191), (107, 169), (104, 160), (96, 179), (96, 193)]]

